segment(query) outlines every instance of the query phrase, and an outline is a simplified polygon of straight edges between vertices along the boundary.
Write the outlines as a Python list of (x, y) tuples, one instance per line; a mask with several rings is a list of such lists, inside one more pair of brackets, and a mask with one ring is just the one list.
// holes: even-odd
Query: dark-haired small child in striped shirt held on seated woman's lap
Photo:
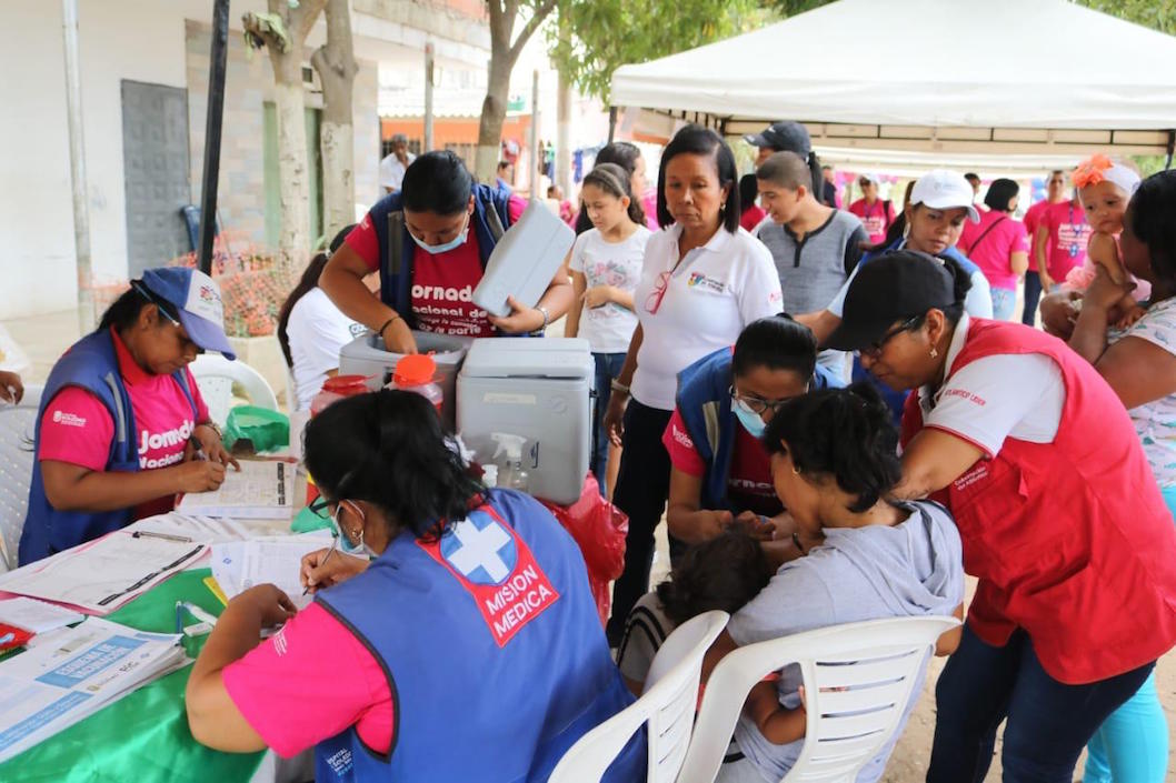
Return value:
[(690, 547), (669, 578), (629, 613), (616, 651), (629, 689), (641, 694), (654, 656), (675, 628), (713, 609), (734, 614), (759, 595), (771, 573), (760, 540), (740, 524)]

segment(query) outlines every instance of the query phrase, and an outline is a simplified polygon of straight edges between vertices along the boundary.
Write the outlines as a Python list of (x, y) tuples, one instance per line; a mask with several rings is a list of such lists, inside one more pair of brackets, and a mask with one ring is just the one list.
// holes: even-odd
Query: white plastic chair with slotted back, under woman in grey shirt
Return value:
[(782, 779), (851, 783), (898, 729), (911, 689), (955, 617), (895, 617), (833, 625), (748, 644), (707, 681), (679, 783), (711, 783), (748, 691), (764, 675), (799, 663), (808, 723), (804, 748)]

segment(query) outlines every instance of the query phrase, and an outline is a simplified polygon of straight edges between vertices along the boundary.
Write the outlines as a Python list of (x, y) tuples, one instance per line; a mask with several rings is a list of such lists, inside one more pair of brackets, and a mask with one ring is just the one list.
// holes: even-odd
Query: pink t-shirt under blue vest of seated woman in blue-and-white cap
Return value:
[[(134, 439), (140, 470), (166, 468), (183, 461), (183, 448), (196, 422), (208, 421), (208, 407), (200, 396), (195, 379), (185, 369), (196, 403), (196, 416), (193, 419), (192, 404), (175, 379), (143, 370), (114, 329), (111, 329), (111, 335), (119, 375), (131, 397), (138, 428)], [(105, 470), (113, 441), (114, 419), (106, 406), (86, 389), (69, 386), (58, 392), (45, 408), (36, 459)], [(161, 514), (172, 510), (173, 506), (174, 497), (161, 497), (136, 507), (134, 516), (141, 518)]]

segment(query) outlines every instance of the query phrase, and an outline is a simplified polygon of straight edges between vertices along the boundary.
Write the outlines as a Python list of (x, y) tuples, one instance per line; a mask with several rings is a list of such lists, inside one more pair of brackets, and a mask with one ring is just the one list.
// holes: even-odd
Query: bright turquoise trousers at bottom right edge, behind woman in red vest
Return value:
[[(1163, 494), (1176, 516), (1176, 487)], [(1168, 718), (1152, 675), (1090, 738), (1082, 783), (1162, 783), (1167, 769)]]

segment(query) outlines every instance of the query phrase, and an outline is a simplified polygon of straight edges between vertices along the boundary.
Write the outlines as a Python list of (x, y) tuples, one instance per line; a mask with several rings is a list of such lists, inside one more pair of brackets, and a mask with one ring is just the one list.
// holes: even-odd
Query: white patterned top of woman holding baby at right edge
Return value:
[[(1152, 304), (1127, 332), (1112, 329), (1108, 334), (1112, 343), (1123, 337), (1147, 340), (1176, 354), (1176, 299)], [(1176, 394), (1136, 406), (1127, 413), (1160, 487), (1176, 487)]]

